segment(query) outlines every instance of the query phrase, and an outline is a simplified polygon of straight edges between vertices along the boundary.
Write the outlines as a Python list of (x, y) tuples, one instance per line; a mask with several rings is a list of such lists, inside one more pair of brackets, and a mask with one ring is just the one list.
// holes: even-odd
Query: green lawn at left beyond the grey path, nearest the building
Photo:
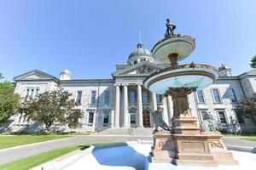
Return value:
[(63, 139), (70, 135), (45, 134), (45, 135), (0, 135), (0, 150), (22, 144), (32, 144), (53, 139)]

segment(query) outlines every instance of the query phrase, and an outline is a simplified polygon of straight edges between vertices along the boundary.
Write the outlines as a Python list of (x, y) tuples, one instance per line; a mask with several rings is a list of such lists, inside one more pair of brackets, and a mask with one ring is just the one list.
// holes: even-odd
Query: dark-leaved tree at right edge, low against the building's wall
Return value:
[(256, 125), (256, 102), (255, 98), (244, 97), (239, 102), (242, 116), (249, 118)]

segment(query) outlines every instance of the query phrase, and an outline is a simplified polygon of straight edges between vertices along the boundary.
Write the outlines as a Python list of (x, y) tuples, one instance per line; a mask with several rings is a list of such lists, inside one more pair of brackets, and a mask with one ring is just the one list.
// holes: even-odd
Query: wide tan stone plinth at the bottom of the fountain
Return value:
[[(192, 126), (194, 128), (194, 126)], [(152, 162), (173, 163), (183, 166), (218, 166), (218, 164), (237, 165), (232, 153), (221, 140), (220, 133), (154, 133)], [(189, 129), (189, 131), (192, 131)]]

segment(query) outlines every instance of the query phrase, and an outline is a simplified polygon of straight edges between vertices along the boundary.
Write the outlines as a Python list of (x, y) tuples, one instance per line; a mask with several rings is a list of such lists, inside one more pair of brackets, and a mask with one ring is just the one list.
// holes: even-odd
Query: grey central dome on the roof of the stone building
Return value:
[(137, 44), (137, 49), (131, 52), (131, 54), (129, 55), (127, 63), (129, 65), (136, 65), (141, 61), (148, 61), (150, 63), (153, 63), (154, 57), (148, 49), (144, 48), (143, 43), (139, 42)]

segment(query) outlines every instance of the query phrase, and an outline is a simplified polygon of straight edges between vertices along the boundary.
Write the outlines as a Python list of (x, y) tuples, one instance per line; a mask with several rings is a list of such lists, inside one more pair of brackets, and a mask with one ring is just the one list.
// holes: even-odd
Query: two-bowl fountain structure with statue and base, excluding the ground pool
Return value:
[(170, 67), (151, 73), (143, 82), (149, 91), (171, 96), (173, 102), (171, 127), (166, 127), (160, 111), (152, 113), (154, 123), (164, 130), (154, 130), (151, 160), (189, 166), (236, 165), (238, 161), (225, 147), (221, 133), (212, 126), (201, 130), (189, 109), (188, 95), (211, 85), (218, 78), (218, 70), (211, 65), (194, 62), (178, 65), (178, 61), (194, 51), (195, 38), (175, 34), (175, 28), (168, 19), (165, 37), (152, 49), (155, 59), (170, 63)]

